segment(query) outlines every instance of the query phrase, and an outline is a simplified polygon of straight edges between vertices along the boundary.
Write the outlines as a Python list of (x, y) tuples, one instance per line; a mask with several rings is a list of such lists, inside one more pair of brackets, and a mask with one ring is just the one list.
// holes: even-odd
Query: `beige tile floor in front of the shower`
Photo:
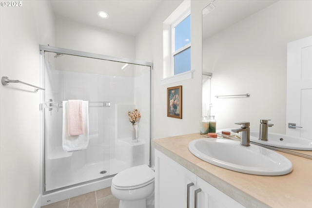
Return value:
[(41, 208), (118, 208), (118, 206), (119, 200), (112, 195), (111, 188), (108, 187)]

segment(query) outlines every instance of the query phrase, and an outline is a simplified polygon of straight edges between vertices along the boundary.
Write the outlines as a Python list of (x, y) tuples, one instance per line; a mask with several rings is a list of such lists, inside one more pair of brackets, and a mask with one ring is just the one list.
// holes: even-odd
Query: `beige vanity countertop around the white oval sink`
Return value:
[[(154, 139), (152, 146), (246, 208), (311, 208), (312, 160), (287, 154), (293, 166), (282, 176), (251, 175), (217, 167), (195, 157), (189, 142), (204, 138), (199, 133)], [(220, 150), (222, 151), (222, 150)]]

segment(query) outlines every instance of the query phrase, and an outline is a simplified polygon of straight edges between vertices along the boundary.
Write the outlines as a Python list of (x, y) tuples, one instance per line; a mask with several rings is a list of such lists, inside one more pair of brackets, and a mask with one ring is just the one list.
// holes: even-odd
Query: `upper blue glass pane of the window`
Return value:
[(191, 15), (181, 21), (175, 28), (175, 50), (191, 42)]

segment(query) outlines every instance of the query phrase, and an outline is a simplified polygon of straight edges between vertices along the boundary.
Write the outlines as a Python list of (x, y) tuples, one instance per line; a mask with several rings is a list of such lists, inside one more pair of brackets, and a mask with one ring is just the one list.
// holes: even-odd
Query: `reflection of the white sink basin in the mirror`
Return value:
[(279, 133), (268, 133), (268, 141), (259, 140), (259, 132), (250, 132), (250, 141), (272, 147), (291, 150), (312, 150), (312, 140), (288, 136)]

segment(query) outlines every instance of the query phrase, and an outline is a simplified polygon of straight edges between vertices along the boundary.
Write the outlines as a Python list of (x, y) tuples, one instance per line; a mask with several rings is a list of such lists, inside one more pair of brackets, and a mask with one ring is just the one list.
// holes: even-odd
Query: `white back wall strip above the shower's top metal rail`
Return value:
[(135, 59), (135, 37), (56, 16), (56, 47)]

